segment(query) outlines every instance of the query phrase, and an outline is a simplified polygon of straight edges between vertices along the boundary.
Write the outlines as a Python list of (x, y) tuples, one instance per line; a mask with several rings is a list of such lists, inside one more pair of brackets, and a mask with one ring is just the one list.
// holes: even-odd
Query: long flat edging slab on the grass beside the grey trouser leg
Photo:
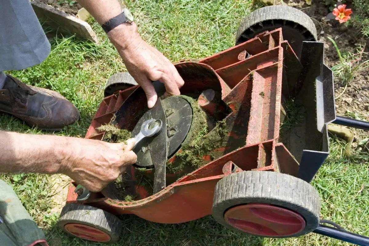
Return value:
[(37, 17), (44, 18), (45, 25), (55, 28), (63, 34), (75, 34), (76, 37), (88, 39), (96, 44), (99, 43), (95, 32), (86, 21), (82, 21), (37, 0), (31, 1), (31, 5)]

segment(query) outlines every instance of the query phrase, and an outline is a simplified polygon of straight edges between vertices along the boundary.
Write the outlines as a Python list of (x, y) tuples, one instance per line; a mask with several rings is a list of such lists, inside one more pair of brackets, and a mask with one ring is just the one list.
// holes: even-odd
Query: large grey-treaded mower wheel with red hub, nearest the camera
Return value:
[(235, 231), (290, 238), (319, 224), (317, 190), (302, 179), (272, 171), (230, 174), (215, 186), (213, 217)]

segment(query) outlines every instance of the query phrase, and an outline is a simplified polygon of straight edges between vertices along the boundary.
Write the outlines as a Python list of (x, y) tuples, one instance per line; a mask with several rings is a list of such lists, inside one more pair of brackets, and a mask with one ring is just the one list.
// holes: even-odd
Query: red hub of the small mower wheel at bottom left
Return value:
[(89, 225), (69, 223), (64, 226), (64, 229), (76, 237), (94, 242), (108, 242), (111, 239), (106, 232)]

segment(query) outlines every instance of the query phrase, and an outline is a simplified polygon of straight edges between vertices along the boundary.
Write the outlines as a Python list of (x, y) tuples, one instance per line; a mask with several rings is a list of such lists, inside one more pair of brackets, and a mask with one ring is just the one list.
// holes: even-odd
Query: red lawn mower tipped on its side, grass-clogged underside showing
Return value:
[(148, 120), (162, 129), (141, 141), (119, 182), (89, 193), (72, 181), (58, 225), (111, 243), (124, 228), (117, 215), (165, 224), (212, 215), (247, 235), (314, 232), (369, 245), (368, 237), (320, 219), (320, 197), (309, 184), (329, 154), (328, 124), (369, 129), (336, 116), (323, 56), (310, 17), (268, 6), (242, 20), (234, 47), (174, 63), (185, 82), (181, 96), (163, 98), (165, 87), (153, 82), (158, 101), (148, 109), (128, 73), (112, 76), (86, 138), (106, 139), (99, 127), (107, 124), (132, 136)]

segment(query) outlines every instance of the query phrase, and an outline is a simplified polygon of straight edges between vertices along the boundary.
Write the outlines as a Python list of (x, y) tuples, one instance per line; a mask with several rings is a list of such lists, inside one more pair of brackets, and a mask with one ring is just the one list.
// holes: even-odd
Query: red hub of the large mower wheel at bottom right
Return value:
[(270, 204), (240, 205), (225, 212), (224, 218), (231, 226), (257, 236), (289, 236), (306, 226), (300, 214)]

